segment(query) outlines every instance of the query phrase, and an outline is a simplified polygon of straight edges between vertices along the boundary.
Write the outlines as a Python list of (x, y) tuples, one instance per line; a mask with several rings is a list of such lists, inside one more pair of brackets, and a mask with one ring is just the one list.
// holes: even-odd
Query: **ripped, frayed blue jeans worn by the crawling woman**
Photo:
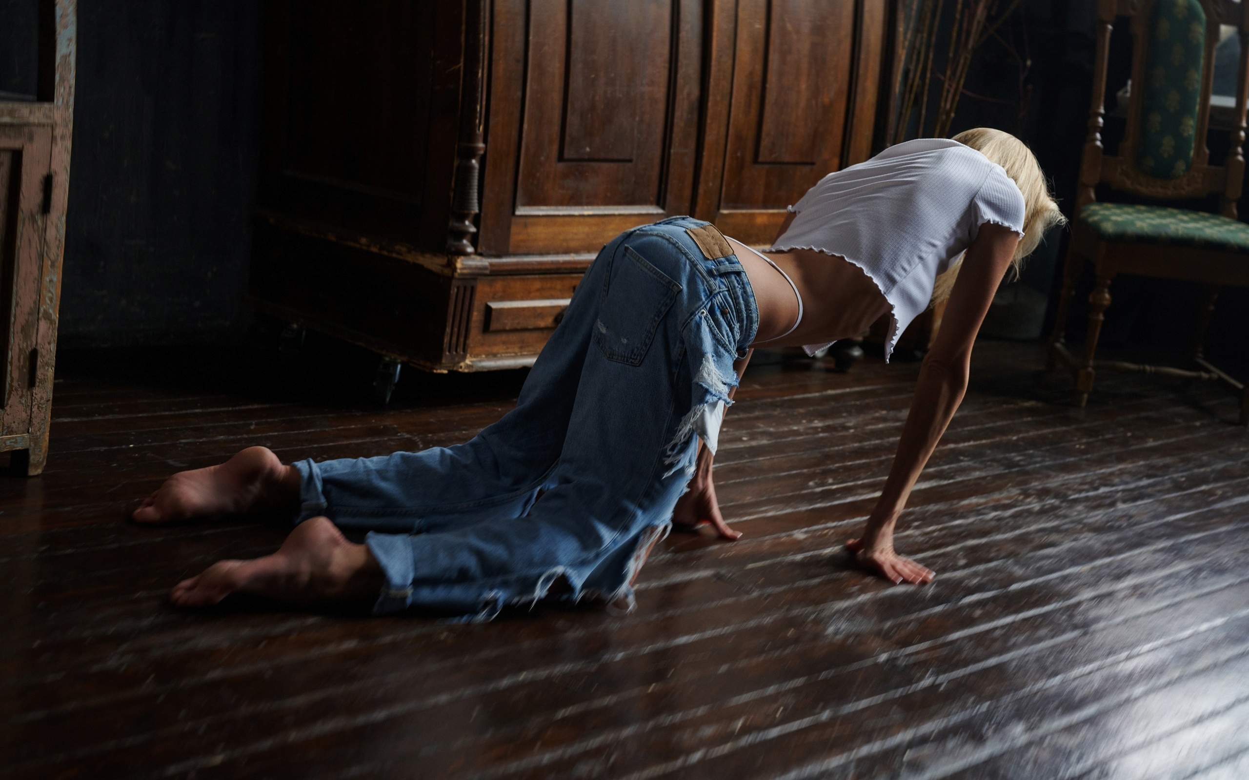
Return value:
[(673, 217), (605, 246), (516, 408), (472, 441), (295, 464), (300, 522), (371, 532), (386, 577), (375, 613), (490, 619), (561, 579), (561, 599), (632, 608), (758, 327), (727, 242), (692, 232), (706, 225)]

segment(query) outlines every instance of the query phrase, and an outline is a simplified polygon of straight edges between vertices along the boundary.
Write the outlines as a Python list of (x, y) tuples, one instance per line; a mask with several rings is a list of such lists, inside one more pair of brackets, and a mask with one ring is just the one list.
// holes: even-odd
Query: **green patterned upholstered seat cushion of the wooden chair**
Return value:
[(1249, 255), (1249, 225), (1204, 211), (1089, 203), (1077, 222), (1102, 241), (1134, 241)]

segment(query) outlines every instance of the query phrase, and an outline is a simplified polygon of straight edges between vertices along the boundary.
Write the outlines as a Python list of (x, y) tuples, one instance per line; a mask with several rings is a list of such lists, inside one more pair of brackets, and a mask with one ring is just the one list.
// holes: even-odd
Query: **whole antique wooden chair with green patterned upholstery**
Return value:
[[(1132, 17), (1133, 64), (1128, 126), (1118, 156), (1102, 150), (1107, 56), (1115, 16)], [(1249, 1), (1230, 0), (1099, 0), (1097, 60), (1089, 135), (1080, 162), (1077, 217), (1059, 298), (1058, 318), (1047, 348), (1048, 369), (1062, 363), (1075, 377), (1075, 403), (1084, 406), (1095, 369), (1138, 371), (1195, 379), (1223, 381), (1240, 393), (1240, 423), (1249, 423), (1249, 392), (1202, 354), (1205, 328), (1219, 288), (1249, 287), (1249, 225), (1237, 220), (1244, 181), (1247, 71), (1249, 71)], [(1219, 25), (1234, 25), (1240, 36), (1235, 122), (1223, 166), (1209, 165), (1205, 132)], [(1094, 187), (1159, 200), (1220, 193), (1220, 213), (1095, 202)], [(1067, 310), (1084, 262), (1092, 262), (1097, 283), (1089, 296), (1084, 356), (1077, 359), (1064, 343)], [(1109, 286), (1118, 273), (1139, 273), (1202, 282), (1209, 287), (1197, 341), (1193, 371), (1094, 361), (1098, 333), (1108, 306)]]

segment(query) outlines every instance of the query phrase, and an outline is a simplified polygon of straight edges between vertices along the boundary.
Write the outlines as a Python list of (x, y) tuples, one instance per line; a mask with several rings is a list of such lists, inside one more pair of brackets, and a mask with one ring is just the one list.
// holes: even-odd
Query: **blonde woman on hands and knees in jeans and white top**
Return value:
[[(565, 599), (631, 607), (671, 523), (739, 535), (716, 503), (712, 458), (753, 346), (814, 352), (889, 313), (888, 359), (911, 319), (948, 296), (884, 489), (847, 543), (894, 583), (931, 582), (894, 552), (894, 524), (963, 397), (999, 282), (1062, 216), (1032, 152), (985, 129), (893, 146), (826, 176), (789, 212), (767, 255), (689, 217), (615, 238), (516, 408), (465, 444), (291, 466), (252, 447), (175, 474), (137, 522), (270, 509), (299, 524), (274, 555), (219, 562), (172, 602), (376, 598), (378, 613), (488, 619), (558, 583)], [(370, 533), (352, 544), (338, 528)]]

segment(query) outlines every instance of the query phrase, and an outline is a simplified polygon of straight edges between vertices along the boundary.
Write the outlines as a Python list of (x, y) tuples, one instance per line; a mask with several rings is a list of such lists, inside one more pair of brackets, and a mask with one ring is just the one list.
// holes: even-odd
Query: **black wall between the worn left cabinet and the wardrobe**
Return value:
[(210, 341), (239, 321), (261, 22), (256, 0), (80, 0), (62, 346)]

